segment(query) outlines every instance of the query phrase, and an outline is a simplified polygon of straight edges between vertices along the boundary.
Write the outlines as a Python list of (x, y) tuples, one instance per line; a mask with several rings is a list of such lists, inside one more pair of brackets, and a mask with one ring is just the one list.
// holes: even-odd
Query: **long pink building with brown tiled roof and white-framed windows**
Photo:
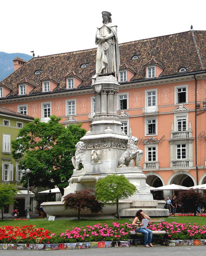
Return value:
[[(206, 183), (205, 42), (205, 31), (188, 31), (120, 44), (117, 110), (122, 130), (139, 138), (150, 186)], [(0, 82), (0, 107), (88, 130), (95, 56), (89, 49), (33, 58)]]

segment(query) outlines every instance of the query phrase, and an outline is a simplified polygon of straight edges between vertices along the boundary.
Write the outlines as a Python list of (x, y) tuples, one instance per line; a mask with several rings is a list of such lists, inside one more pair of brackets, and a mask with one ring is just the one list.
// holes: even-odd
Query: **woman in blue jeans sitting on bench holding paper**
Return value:
[[(142, 219), (150, 219), (149, 216), (147, 216), (143, 210), (138, 210), (135, 214), (135, 218), (132, 222), (132, 226), (143, 226), (144, 224), (140, 223), (136, 223), (137, 221), (142, 222)], [(147, 228), (139, 228), (137, 229), (138, 233), (142, 233), (145, 235), (145, 247), (153, 247), (152, 245), (152, 231), (147, 229)]]

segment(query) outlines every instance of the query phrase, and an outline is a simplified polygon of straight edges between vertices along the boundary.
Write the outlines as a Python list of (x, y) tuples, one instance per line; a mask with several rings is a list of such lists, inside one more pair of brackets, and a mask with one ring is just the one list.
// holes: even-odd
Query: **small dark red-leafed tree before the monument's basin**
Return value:
[(69, 193), (64, 197), (65, 209), (75, 209), (78, 211), (78, 219), (80, 219), (81, 210), (91, 210), (92, 213), (102, 211), (103, 203), (96, 200), (96, 196), (91, 193), (95, 191), (92, 189), (78, 190), (74, 193)]

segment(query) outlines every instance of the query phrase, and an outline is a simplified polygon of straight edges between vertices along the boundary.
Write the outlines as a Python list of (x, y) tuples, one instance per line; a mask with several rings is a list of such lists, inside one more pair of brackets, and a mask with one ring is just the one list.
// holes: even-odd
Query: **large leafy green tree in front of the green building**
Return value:
[[(63, 195), (74, 169), (71, 158), (75, 155), (75, 145), (86, 130), (81, 128), (81, 123), (65, 128), (60, 120), (56, 116), (50, 116), (48, 123), (34, 119), (20, 130), (11, 145), (13, 158), (20, 159), (26, 153), (21, 168), (31, 170), (29, 185), (49, 188), (57, 185)], [(26, 175), (21, 182), (26, 187)]]

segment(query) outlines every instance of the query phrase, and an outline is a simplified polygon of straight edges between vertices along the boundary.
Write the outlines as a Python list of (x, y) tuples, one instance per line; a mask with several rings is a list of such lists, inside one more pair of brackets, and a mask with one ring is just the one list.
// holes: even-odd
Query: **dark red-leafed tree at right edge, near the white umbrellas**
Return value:
[(196, 216), (198, 206), (206, 205), (206, 195), (199, 189), (184, 190), (179, 193), (177, 203), (181, 203), (184, 212), (193, 212)]

